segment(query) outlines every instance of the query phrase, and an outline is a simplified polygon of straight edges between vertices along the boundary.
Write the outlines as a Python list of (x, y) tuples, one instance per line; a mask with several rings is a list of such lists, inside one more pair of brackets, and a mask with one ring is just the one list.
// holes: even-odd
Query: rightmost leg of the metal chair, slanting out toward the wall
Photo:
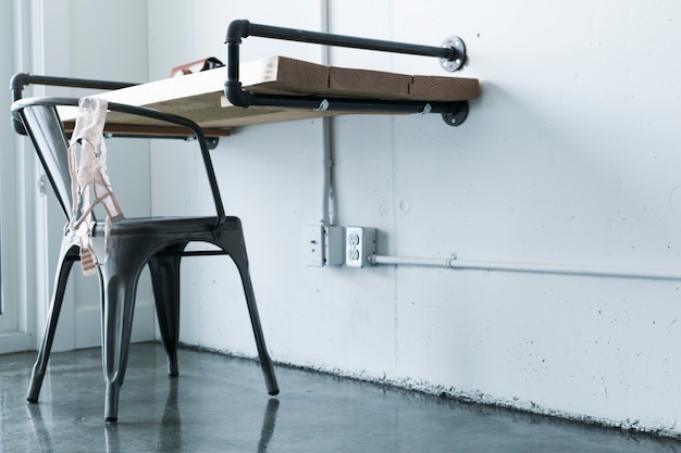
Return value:
[(248, 270), (248, 256), (246, 254), (246, 246), (244, 239), (240, 239), (240, 247), (238, 250), (232, 250), (230, 255), (238, 268), (242, 277), (242, 285), (244, 286), (244, 294), (246, 295), (246, 305), (248, 306), (248, 314), (250, 315), (250, 324), (253, 329), (253, 336), (256, 337), (256, 347), (258, 348), (258, 355), (260, 357), (260, 367), (262, 368), (262, 375), (268, 388), (268, 393), (271, 395), (278, 394), (278, 385), (276, 383), (276, 376), (274, 375), (274, 365), (268, 348), (264, 341), (264, 335), (262, 334), (262, 326), (260, 324), (260, 315), (258, 314), (258, 305), (256, 304), (256, 294), (253, 292), (252, 282), (250, 280), (250, 273)]

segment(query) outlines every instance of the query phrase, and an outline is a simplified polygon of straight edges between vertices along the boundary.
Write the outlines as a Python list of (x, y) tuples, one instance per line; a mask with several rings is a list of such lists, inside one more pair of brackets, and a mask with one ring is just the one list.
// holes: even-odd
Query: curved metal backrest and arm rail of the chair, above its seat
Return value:
[[(64, 134), (60, 121), (58, 106), (77, 106), (76, 98), (26, 98), (12, 104), (12, 116), (18, 118), (26, 129), (40, 163), (54, 189), (59, 203), (66, 218), (71, 217), (73, 199), (71, 192), (71, 175), (69, 173), (69, 140)], [(222, 205), (222, 198), (218, 189), (213, 165), (210, 158), (208, 142), (200, 126), (196, 123), (176, 115), (162, 113), (152, 109), (138, 108), (126, 104), (109, 103), (109, 110), (129, 115), (145, 116), (176, 126), (187, 128), (196, 136), (200, 150), (206, 174), (213, 196), (216, 212), (216, 224), (224, 223), (226, 216)]]

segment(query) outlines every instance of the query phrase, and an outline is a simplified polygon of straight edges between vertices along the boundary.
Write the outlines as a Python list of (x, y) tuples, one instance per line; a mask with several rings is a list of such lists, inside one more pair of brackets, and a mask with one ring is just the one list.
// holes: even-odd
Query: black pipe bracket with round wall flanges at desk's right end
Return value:
[(445, 122), (451, 126), (458, 126), (468, 115), (467, 101), (425, 102), (253, 93), (243, 89), (242, 83), (239, 81), (239, 46), (242, 39), (249, 36), (393, 53), (438, 56), (447, 62), (447, 64), (444, 64), (445, 67), (456, 66), (456, 68), (459, 68), (466, 61), (466, 47), (460, 39), (451, 41), (456, 42), (456, 45), (451, 47), (430, 47), (295, 28), (273, 27), (269, 25), (251, 24), (246, 20), (233, 21), (227, 27), (227, 37), (225, 40), (227, 45), (227, 80), (225, 81), (225, 96), (233, 105), (242, 108), (249, 108), (251, 105), (283, 106), (318, 111), (441, 113)]

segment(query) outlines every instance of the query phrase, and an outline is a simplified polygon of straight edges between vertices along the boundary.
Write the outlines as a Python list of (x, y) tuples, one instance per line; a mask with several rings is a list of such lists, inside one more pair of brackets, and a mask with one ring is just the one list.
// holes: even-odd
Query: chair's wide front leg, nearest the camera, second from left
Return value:
[(125, 378), (138, 273), (115, 269), (113, 256), (102, 267), (102, 362), (106, 382), (104, 421), (119, 419), (119, 392)]

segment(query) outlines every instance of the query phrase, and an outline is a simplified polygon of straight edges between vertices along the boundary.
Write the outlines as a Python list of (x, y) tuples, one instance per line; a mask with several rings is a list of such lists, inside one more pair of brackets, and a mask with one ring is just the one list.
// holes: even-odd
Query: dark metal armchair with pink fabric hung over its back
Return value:
[[(78, 99), (28, 98), (12, 104), (12, 115), (24, 125), (54, 189), (61, 207), (72, 213), (71, 176), (69, 174), (69, 142), (57, 108), (78, 105)], [(248, 269), (242, 223), (226, 216), (213, 172), (209, 147), (201, 128), (179, 116), (154, 110), (109, 103), (109, 110), (182, 126), (196, 136), (206, 166), (215, 216), (123, 218), (113, 223), (110, 231), (110, 253), (98, 269), (102, 314), (102, 362), (106, 381), (104, 420), (116, 421), (119, 392), (125, 376), (133, 324), (134, 298), (139, 275), (148, 265), (163, 345), (168, 353), (168, 370), (177, 375), (177, 343), (179, 332), (179, 264), (183, 256), (227, 254), (242, 277), (250, 322), (256, 337), (260, 365), (270, 394), (277, 394), (274, 368), (267, 351), (258, 309)], [(104, 240), (102, 222), (95, 225), (92, 240), (101, 247)], [(216, 246), (213, 251), (186, 251), (189, 242)], [(73, 263), (79, 260), (78, 238), (67, 228), (62, 239), (54, 280), (54, 292), (38, 358), (33, 368), (27, 400), (37, 402), (45, 377), (64, 290)]]

